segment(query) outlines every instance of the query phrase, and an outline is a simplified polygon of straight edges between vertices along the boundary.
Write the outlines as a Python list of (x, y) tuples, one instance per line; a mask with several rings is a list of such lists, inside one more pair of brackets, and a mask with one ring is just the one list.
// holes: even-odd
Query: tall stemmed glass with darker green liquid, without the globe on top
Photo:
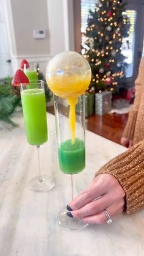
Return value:
[[(75, 105), (75, 139), (71, 139), (70, 106), (65, 98), (54, 95), (59, 167), (64, 174), (71, 175), (71, 199), (74, 196), (74, 175), (85, 168), (85, 95), (77, 98)], [(82, 229), (82, 219), (69, 218), (67, 208), (58, 214), (59, 224), (65, 229)]]

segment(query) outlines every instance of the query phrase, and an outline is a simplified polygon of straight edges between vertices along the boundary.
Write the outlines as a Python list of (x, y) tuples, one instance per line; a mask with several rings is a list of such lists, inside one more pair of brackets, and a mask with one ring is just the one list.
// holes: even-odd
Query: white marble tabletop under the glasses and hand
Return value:
[[(19, 128), (0, 131), (0, 255), (1, 256), (141, 256), (144, 255), (144, 211), (117, 216), (111, 225), (88, 225), (65, 230), (57, 213), (70, 200), (70, 176), (57, 161), (54, 116), (48, 114), (49, 141), (41, 146), (43, 174), (56, 185), (48, 192), (27, 187), (37, 175), (37, 152), (27, 144), (21, 113)], [(86, 132), (87, 167), (76, 175), (76, 193), (92, 180), (96, 170), (125, 148)]]

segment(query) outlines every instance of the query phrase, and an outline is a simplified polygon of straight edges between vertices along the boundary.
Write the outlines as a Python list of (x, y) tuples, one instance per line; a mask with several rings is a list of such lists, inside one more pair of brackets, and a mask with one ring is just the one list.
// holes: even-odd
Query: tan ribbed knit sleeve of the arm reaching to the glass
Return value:
[(144, 207), (144, 140), (110, 160), (95, 174), (111, 174), (126, 193), (124, 212)]

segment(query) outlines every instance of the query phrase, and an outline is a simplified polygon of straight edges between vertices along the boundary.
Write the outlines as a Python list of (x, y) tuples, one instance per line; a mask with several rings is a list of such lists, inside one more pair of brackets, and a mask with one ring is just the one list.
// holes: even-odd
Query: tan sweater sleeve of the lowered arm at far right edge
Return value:
[(137, 112), (139, 111), (140, 98), (144, 90), (143, 73), (144, 73), (144, 57), (140, 62), (139, 75), (135, 80), (134, 106), (129, 111), (128, 122), (126, 123), (126, 127), (124, 128), (124, 131), (123, 131), (123, 137), (126, 137), (128, 139), (133, 139), (134, 137), (135, 123), (137, 120)]

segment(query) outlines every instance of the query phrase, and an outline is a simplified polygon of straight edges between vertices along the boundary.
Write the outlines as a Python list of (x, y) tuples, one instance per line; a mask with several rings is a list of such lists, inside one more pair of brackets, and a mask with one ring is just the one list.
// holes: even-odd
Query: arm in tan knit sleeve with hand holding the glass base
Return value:
[(142, 208), (143, 159), (144, 140), (101, 167), (87, 189), (69, 203), (68, 216), (102, 224), (106, 222), (104, 209), (113, 217)]

